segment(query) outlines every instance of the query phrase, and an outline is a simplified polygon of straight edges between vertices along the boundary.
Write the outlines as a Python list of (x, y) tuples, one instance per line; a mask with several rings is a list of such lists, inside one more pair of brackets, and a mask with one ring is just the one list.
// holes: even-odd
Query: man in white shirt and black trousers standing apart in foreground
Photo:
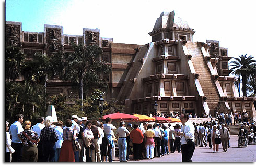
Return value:
[(181, 136), (182, 162), (192, 162), (191, 158), (195, 150), (195, 127), (191, 122), (188, 122), (189, 115), (186, 113), (180, 115), (180, 120), (182, 127), (178, 135)]

